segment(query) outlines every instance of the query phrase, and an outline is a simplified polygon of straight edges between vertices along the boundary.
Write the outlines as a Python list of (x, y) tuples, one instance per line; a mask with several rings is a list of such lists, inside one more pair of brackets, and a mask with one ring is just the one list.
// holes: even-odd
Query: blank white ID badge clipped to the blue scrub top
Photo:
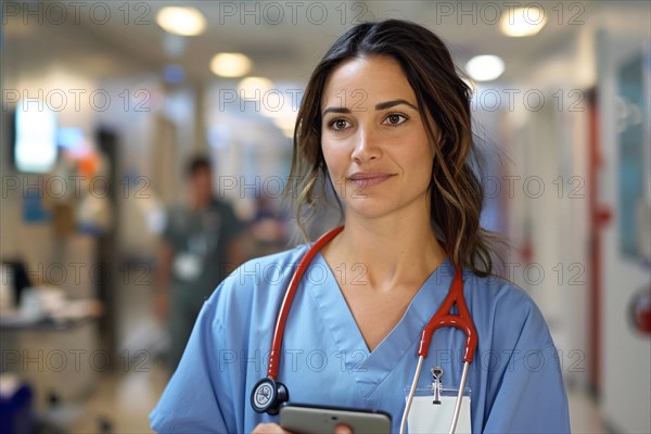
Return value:
[[(407, 391), (409, 393), (409, 391)], [(452, 424), (458, 391), (443, 388), (439, 396), (441, 404), (434, 404), (432, 388), (417, 388), (411, 401), (411, 409), (407, 417), (407, 431), (409, 434), (448, 434)], [(470, 434), (470, 388), (465, 387), (456, 434)]]

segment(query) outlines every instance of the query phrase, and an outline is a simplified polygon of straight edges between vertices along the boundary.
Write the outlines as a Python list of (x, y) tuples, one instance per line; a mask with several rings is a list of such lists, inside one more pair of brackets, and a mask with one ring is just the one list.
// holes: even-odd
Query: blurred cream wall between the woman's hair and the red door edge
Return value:
[[(511, 276), (534, 297), (560, 350), (569, 385), (588, 384), (587, 103), (595, 74), (590, 30), (577, 27), (512, 84), (502, 119), (502, 189), (514, 252)], [(509, 186), (509, 178), (512, 184)], [(531, 263), (522, 250), (531, 248)]]

